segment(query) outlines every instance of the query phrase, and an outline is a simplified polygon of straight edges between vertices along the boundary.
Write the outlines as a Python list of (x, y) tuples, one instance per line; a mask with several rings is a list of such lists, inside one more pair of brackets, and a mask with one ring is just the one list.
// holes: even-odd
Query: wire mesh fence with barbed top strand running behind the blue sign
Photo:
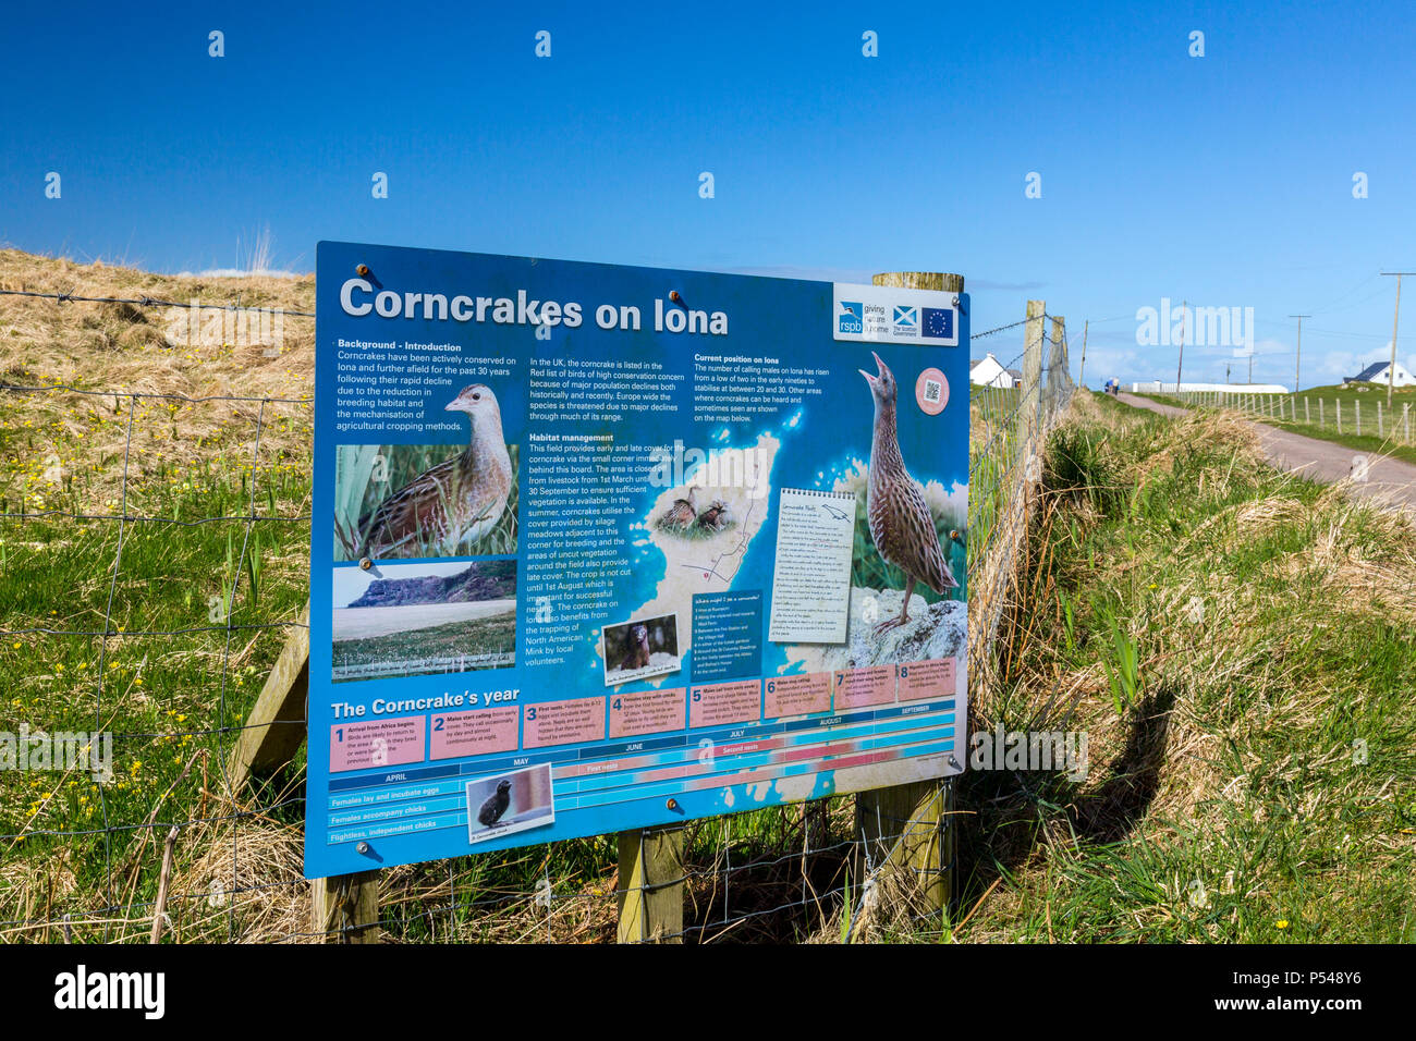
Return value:
[[(0, 293), (55, 306), (239, 309)], [(1044, 440), (1075, 391), (1065, 323), (1041, 302), (973, 340), (1017, 327), (1024, 350), (969, 388), (971, 700), (988, 683), (998, 619), (1017, 588)], [(232, 752), (252, 729), (261, 677), (292, 635), (307, 640), (313, 460), (299, 442), (313, 429), (313, 399), (0, 374), (0, 729), (78, 732), (113, 749), (108, 776), (72, 765), (0, 770), (0, 942), (855, 940), (937, 938), (966, 918), (957, 906), (940, 916), (922, 897), (942, 874), (959, 897), (957, 864), (943, 853), (956, 848), (950, 810), (877, 821), (877, 836), (933, 830), (933, 867), (898, 872), (843, 796), (692, 821), (667, 865), (649, 860), (661, 834), (650, 830), (637, 865), (624, 863), (623, 843), (616, 850), (616, 837), (600, 836), (391, 868), (379, 872), (375, 914), (312, 925), (303, 759), (246, 779)], [(202, 409), (228, 415), (208, 419), (193, 443), (180, 416), (193, 425)], [(98, 462), (55, 463), (44, 450), (51, 426), (102, 442)], [(197, 459), (174, 463), (163, 440)], [(259, 725), (303, 734), (304, 719)], [(952, 796), (950, 782), (935, 786), (940, 803)], [(626, 936), (624, 902), (656, 894), (681, 894), (681, 928)]]

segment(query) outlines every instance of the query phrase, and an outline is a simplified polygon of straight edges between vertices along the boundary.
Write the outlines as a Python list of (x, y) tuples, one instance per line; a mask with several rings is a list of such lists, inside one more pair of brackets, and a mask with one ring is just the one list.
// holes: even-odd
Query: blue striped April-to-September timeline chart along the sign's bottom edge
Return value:
[(595, 746), (382, 770), (330, 782), (330, 844), (464, 827), (470, 776), (549, 765), (559, 809), (664, 797), (956, 752), (956, 700), (750, 722)]

